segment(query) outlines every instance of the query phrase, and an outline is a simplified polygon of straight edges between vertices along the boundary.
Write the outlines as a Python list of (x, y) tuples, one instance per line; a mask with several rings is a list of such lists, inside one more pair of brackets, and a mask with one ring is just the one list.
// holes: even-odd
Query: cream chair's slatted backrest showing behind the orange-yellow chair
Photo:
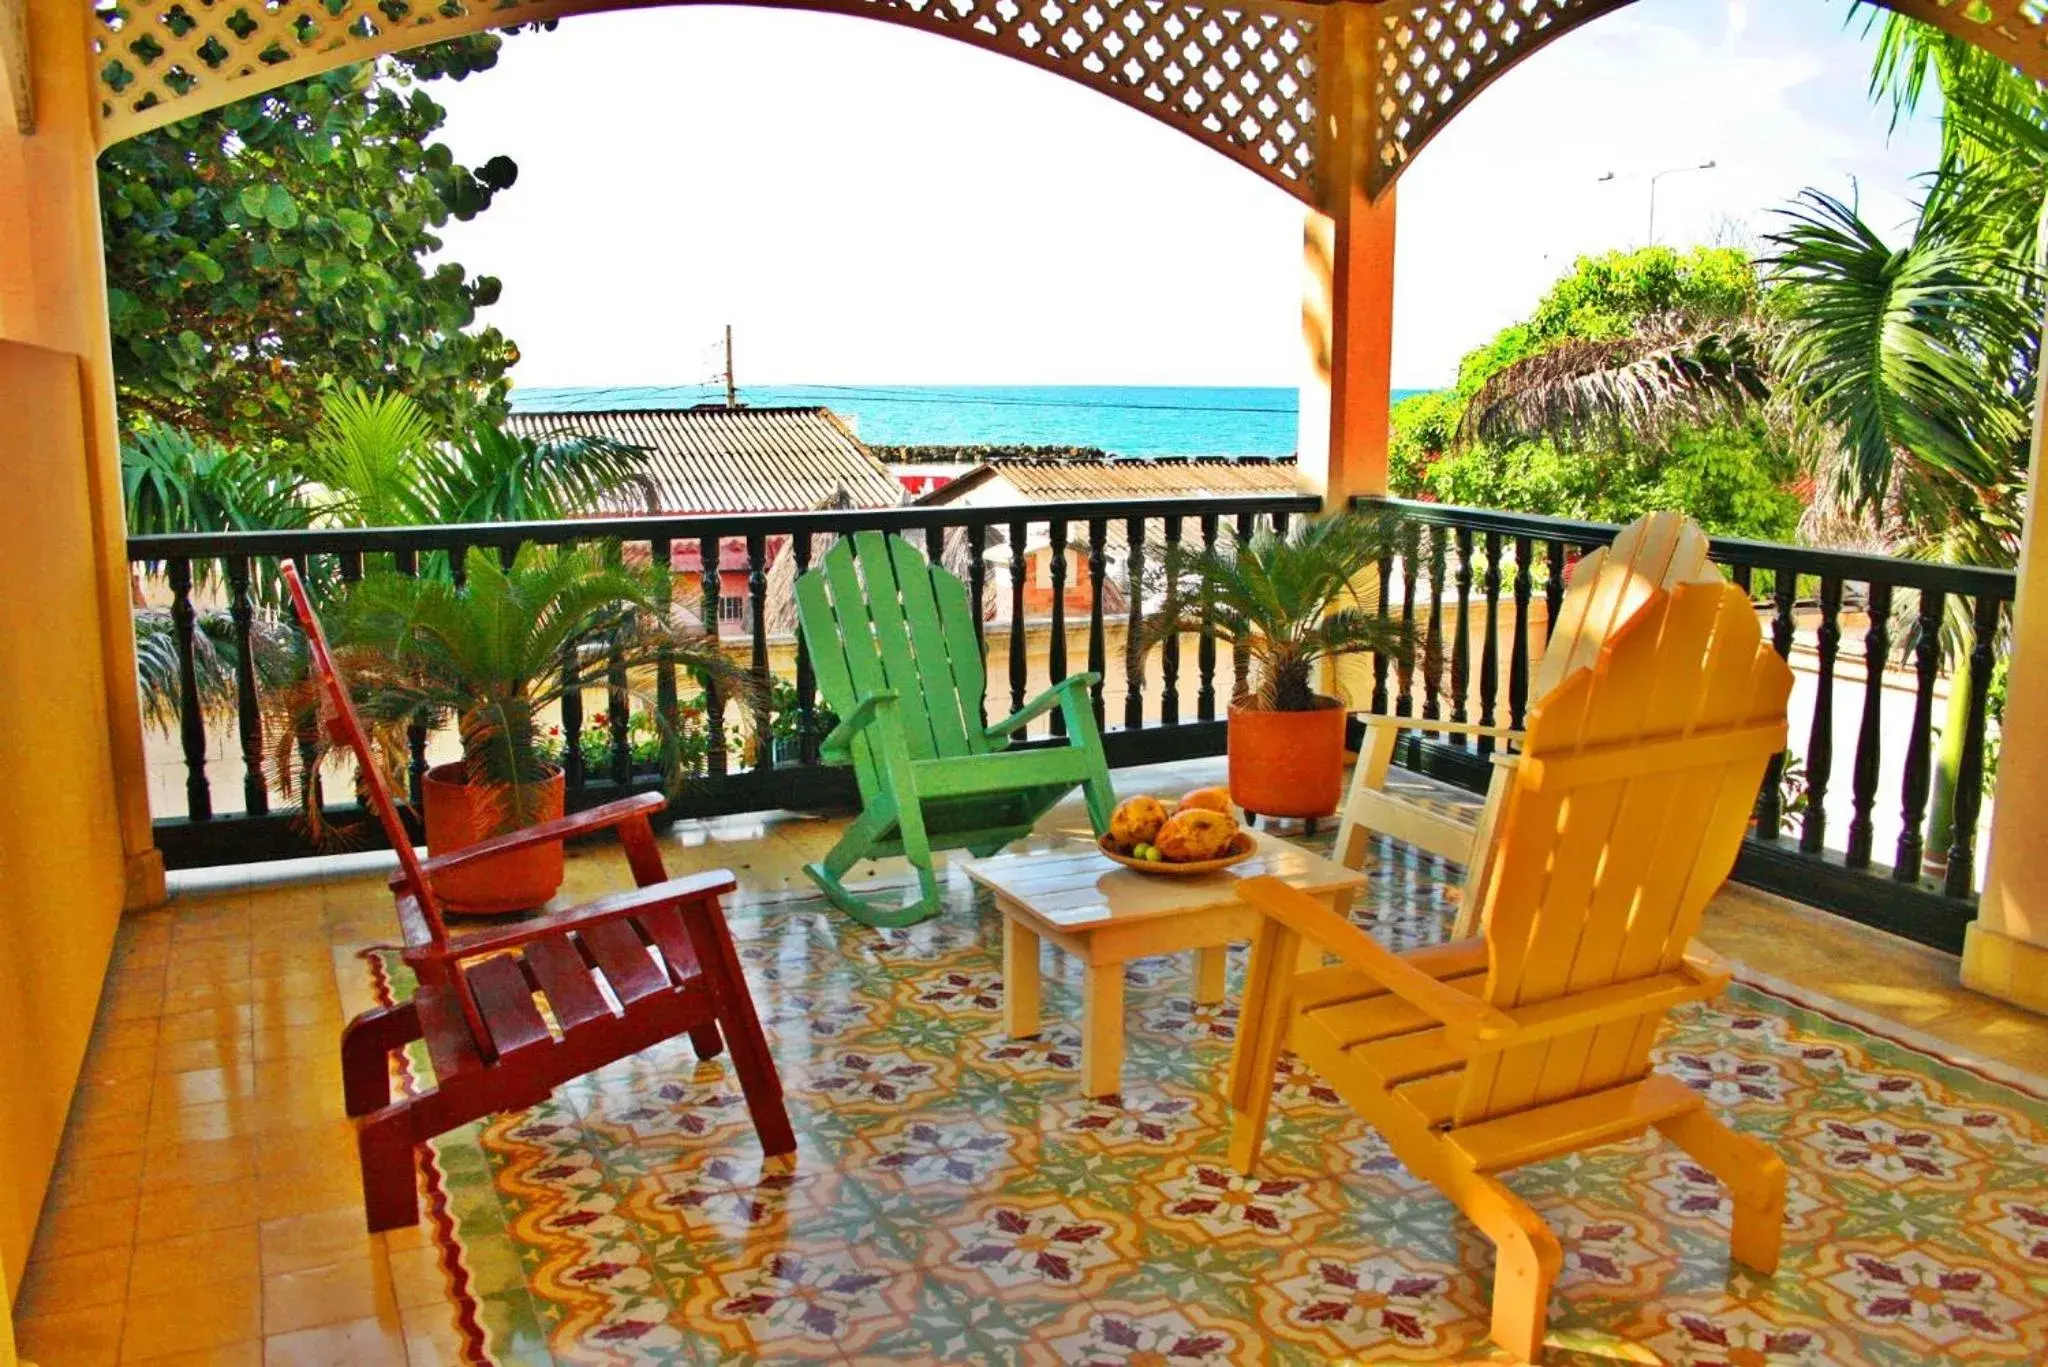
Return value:
[(1706, 551), (1706, 533), (1683, 512), (1647, 512), (1608, 545), (1581, 555), (1530, 678), (1530, 699), (1550, 693), (1573, 670), (1589, 668), (1599, 646), (1651, 590), (1718, 578)]

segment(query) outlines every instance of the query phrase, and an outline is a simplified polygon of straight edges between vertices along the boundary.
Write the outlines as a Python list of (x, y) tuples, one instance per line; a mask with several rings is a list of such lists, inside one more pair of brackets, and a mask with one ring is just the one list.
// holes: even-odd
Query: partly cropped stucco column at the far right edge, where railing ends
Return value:
[(2005, 682), (1999, 791), (1991, 807), (1991, 853), (1976, 924), (1962, 941), (1962, 982), (2048, 1012), (2048, 510), (2040, 496), (2048, 383), (2034, 400), (2036, 471), (2019, 543), (2013, 656)]

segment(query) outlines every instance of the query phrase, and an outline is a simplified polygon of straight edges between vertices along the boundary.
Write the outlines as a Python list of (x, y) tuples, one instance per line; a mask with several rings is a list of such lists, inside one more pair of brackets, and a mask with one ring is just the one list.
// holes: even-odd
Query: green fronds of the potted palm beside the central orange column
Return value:
[(1169, 547), (1145, 590), (1159, 609), (1133, 646), (1143, 656), (1171, 635), (1212, 635), (1257, 666), (1255, 705), (1309, 711), (1317, 662), (1409, 650), (1407, 625), (1378, 615), (1370, 572), (1395, 553), (1397, 533), (1393, 519), (1343, 512), (1300, 519), (1286, 535)]

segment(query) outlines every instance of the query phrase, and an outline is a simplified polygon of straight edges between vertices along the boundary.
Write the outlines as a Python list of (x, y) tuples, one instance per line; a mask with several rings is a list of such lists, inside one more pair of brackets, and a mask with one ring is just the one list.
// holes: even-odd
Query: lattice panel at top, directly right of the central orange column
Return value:
[(1628, 0), (1427, 0), (1389, 4), (1374, 37), (1376, 152), (1372, 193), (1487, 82), (1544, 43)]

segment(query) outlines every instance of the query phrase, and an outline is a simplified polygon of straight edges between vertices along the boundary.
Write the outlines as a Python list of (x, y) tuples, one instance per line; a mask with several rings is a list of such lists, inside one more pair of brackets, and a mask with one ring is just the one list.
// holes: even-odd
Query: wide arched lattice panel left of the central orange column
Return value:
[[(618, 0), (100, 0), (100, 139), (342, 61)], [(1315, 6), (1163, 0), (797, 0), (1020, 57), (1155, 115), (1307, 197)]]

